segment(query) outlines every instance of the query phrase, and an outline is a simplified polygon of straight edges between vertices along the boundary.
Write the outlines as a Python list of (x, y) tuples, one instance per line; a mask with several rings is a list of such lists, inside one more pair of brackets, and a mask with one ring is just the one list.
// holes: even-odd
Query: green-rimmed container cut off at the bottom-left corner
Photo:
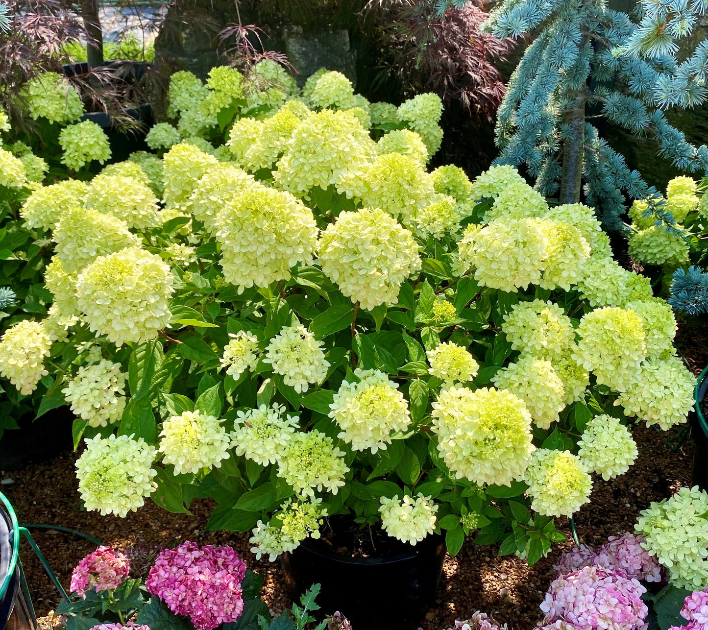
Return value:
[(19, 560), (20, 528), (8, 500), (0, 494), (0, 628), (35, 630), (37, 618)]

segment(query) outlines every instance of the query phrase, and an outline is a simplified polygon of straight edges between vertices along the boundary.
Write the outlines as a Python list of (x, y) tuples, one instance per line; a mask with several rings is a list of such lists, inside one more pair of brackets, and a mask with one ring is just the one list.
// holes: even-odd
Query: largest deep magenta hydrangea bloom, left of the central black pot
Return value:
[(147, 577), (147, 590), (174, 614), (189, 617), (199, 630), (235, 622), (244, 600), (246, 565), (229, 546), (185, 542), (161, 552)]

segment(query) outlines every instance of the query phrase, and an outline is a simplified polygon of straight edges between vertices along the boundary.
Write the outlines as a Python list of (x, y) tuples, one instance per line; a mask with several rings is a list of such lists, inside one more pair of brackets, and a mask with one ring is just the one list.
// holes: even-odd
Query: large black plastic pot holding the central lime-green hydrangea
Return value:
[(321, 612), (339, 611), (354, 628), (415, 628), (438, 590), (445, 540), (433, 534), (406, 547), (386, 558), (351, 558), (306, 539), (281, 556), (285, 586), (295, 598), (320, 583)]

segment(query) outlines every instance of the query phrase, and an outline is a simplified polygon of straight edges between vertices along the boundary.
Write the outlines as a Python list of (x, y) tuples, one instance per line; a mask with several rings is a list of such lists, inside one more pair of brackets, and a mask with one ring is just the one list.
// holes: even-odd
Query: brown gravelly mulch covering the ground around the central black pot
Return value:
[[(694, 328), (683, 325), (677, 336), (696, 374), (708, 363), (705, 328), (705, 324)], [(639, 510), (651, 501), (670, 496), (681, 486), (690, 485), (692, 441), (686, 440), (675, 452), (668, 443), (670, 440), (680, 442), (680, 430), (674, 428), (662, 433), (636, 425), (634, 439), (639, 447), (639, 458), (627, 474), (615, 480), (606, 482), (595, 477), (591, 503), (576, 514), (581, 542), (599, 546), (608, 536), (631, 530)], [(191, 506), (193, 515), (171, 514), (152, 501), (125, 519), (85, 512), (76, 492), (75, 457), (67, 452), (52, 462), (34, 464), (21, 471), (0, 471), (0, 479), (14, 481), (0, 486), (0, 490), (11, 500), (21, 521), (72, 527), (119, 549), (151, 549), (188, 539), (200, 544), (229, 544), (239, 551), (249, 568), (265, 574), (262, 596), (270, 609), (279, 612), (290, 604), (278, 580), (280, 566), (255, 560), (249, 551), (249, 534), (203, 531), (213, 507), (210, 500), (195, 500)], [(556, 527), (571, 540), (566, 519), (556, 520)], [(33, 534), (50, 566), (68, 586), (72, 568), (93, 551), (93, 544), (60, 532), (35, 529)], [(438, 598), (421, 620), (421, 629), (448, 628), (455, 619), (469, 617), (478, 609), (492, 614), (510, 628), (531, 629), (541, 617), (539, 603), (553, 578), (552, 564), (570, 546), (571, 542), (556, 544), (547, 559), (528, 567), (525, 561), (514, 556), (498, 557), (496, 546), (466, 542), (454, 559), (446, 559)], [(23, 543), (21, 558), (37, 613), (49, 614), (59, 599), (57, 592), (26, 543)], [(48, 629), (50, 624), (45, 621), (42, 626)]]

